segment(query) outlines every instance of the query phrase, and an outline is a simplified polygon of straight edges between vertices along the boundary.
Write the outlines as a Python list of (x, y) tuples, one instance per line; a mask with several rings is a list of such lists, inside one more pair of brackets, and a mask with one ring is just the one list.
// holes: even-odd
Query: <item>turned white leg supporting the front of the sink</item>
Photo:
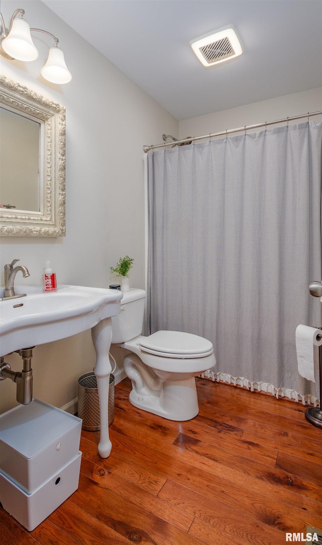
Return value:
[(96, 352), (94, 373), (98, 384), (100, 404), (100, 442), (98, 446), (101, 458), (110, 456), (112, 443), (108, 433), (108, 390), (112, 366), (108, 353), (112, 342), (112, 318), (104, 318), (92, 328), (92, 339)]

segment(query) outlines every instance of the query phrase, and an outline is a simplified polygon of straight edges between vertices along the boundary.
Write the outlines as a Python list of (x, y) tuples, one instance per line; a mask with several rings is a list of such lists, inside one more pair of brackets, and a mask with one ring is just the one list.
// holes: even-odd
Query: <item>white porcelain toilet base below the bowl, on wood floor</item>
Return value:
[(134, 407), (168, 420), (184, 422), (191, 420), (199, 413), (195, 377), (165, 381), (160, 391), (145, 390), (143, 395), (133, 387), (129, 399)]

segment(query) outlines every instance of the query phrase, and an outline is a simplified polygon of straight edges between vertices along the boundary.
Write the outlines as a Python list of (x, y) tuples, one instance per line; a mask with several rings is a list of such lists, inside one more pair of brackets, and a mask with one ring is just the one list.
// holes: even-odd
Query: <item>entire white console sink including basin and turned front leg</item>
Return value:
[(99, 454), (110, 456), (108, 389), (112, 367), (108, 353), (112, 340), (112, 316), (120, 312), (123, 294), (117, 289), (59, 286), (42, 293), (40, 287), (16, 286), (26, 297), (0, 301), (0, 356), (71, 337), (92, 329), (96, 352), (94, 372), (100, 403)]

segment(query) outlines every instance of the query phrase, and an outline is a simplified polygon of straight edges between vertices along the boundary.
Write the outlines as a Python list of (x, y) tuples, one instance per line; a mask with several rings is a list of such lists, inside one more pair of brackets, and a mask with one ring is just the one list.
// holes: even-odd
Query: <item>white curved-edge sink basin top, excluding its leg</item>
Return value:
[(0, 301), (0, 356), (92, 329), (120, 312), (122, 297), (116, 289), (83, 286), (61, 286), (51, 293), (22, 286), (16, 293), (27, 296)]

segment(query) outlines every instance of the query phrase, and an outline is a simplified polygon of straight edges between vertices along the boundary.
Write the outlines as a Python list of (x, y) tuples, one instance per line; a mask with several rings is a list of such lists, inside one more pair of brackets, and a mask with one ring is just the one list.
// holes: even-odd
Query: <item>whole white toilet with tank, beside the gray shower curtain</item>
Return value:
[(190, 420), (199, 412), (195, 377), (216, 364), (214, 348), (181, 331), (142, 336), (146, 296), (137, 288), (123, 293), (121, 311), (112, 317), (112, 343), (130, 350), (124, 358), (130, 402), (169, 420)]

